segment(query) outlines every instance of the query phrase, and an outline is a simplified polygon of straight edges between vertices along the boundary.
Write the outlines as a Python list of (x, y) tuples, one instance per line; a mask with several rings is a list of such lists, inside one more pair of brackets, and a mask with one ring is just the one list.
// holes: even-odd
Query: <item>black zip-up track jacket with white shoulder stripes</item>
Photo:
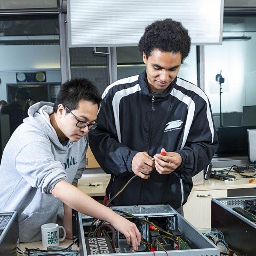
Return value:
[(116, 81), (102, 94), (97, 123), (89, 143), (101, 168), (111, 174), (108, 198), (134, 175), (136, 153), (146, 151), (153, 157), (164, 148), (182, 157), (171, 174), (154, 169), (147, 180), (133, 179), (113, 205), (168, 203), (177, 209), (187, 201), (191, 177), (210, 163), (218, 148), (207, 96), (178, 77), (159, 97), (149, 93), (146, 71)]

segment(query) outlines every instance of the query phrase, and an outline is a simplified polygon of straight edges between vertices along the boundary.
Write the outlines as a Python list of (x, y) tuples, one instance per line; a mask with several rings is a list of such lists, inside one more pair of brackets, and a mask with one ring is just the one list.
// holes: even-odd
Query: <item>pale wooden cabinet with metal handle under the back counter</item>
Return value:
[(191, 191), (187, 203), (183, 206), (184, 218), (197, 229), (210, 228), (212, 198), (227, 196), (227, 189)]

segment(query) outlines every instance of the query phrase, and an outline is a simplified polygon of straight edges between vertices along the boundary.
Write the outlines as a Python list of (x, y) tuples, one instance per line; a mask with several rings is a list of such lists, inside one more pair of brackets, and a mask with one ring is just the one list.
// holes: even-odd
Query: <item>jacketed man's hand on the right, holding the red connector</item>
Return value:
[[(161, 150), (161, 154), (155, 154), (155, 167), (160, 174), (169, 174), (176, 170), (182, 163), (180, 154), (175, 152), (166, 152), (164, 148)], [(166, 153), (166, 155), (165, 155)]]

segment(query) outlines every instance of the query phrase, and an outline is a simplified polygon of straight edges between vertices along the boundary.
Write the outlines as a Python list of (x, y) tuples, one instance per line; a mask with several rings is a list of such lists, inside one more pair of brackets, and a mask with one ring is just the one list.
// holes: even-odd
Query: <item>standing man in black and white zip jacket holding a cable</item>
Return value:
[(146, 70), (106, 88), (90, 147), (111, 174), (108, 199), (139, 176), (113, 205), (170, 204), (183, 213), (191, 177), (218, 148), (210, 103), (199, 87), (177, 77), (190, 51), (181, 23), (155, 21), (146, 27), (138, 48)]

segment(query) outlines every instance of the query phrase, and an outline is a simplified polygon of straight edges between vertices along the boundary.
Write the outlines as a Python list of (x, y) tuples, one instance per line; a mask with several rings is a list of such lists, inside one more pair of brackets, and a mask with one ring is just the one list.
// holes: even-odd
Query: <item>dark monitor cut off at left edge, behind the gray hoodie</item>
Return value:
[(10, 139), (10, 120), (9, 115), (0, 113), (0, 161), (4, 147)]

